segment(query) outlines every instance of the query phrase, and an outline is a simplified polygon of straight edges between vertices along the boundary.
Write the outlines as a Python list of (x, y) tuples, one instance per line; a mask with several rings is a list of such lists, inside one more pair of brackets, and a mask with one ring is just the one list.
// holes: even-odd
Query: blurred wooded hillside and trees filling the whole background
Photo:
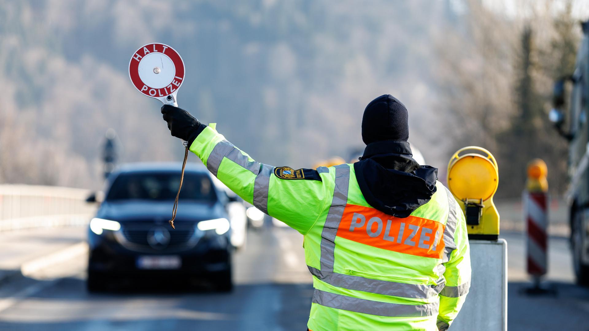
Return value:
[(263, 163), (349, 158), (365, 105), (390, 93), (440, 178), (481, 145), (498, 196), (519, 197), (535, 157), (560, 194), (567, 151), (547, 112), (587, 18), (573, 0), (0, 0), (0, 183), (100, 187), (108, 128), (123, 161), (180, 159), (127, 74), (138, 47), (163, 42), (187, 67), (180, 107)]

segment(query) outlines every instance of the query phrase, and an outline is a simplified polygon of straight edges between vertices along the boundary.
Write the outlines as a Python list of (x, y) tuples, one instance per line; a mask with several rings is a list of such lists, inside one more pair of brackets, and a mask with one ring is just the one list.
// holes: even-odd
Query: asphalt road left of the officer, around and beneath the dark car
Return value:
[(80, 251), (0, 285), (0, 330), (306, 330), (313, 290), (299, 233), (250, 231), (234, 266), (231, 293), (186, 293), (172, 279), (90, 294)]

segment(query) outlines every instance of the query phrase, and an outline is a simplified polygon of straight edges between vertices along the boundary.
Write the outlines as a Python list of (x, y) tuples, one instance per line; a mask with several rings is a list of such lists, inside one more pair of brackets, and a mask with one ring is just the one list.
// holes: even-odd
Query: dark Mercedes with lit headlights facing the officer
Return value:
[(187, 165), (178, 213), (168, 220), (181, 164), (129, 164), (108, 177), (104, 201), (88, 228), (87, 287), (121, 278), (209, 280), (230, 290), (230, 223), (226, 194), (203, 166)]

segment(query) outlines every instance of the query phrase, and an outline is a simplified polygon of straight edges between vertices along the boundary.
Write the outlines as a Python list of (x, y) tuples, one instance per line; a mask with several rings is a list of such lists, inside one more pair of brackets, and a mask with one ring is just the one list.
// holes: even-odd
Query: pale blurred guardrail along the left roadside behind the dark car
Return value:
[(0, 185), (0, 232), (87, 224), (96, 206), (81, 188)]

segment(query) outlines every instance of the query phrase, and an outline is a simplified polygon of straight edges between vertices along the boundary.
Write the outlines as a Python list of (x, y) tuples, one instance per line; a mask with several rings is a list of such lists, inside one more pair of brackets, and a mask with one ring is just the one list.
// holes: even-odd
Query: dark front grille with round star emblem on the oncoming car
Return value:
[[(174, 224), (176, 229), (168, 229), (170, 234), (170, 241), (165, 247), (152, 247), (148, 241), (148, 234), (155, 227), (161, 227), (156, 224), (133, 224), (123, 226), (118, 236), (118, 241), (127, 249), (145, 252), (170, 252), (187, 250), (194, 247), (198, 241), (198, 236), (195, 236), (195, 229), (193, 224)], [(163, 227), (168, 227), (165, 224)]]

